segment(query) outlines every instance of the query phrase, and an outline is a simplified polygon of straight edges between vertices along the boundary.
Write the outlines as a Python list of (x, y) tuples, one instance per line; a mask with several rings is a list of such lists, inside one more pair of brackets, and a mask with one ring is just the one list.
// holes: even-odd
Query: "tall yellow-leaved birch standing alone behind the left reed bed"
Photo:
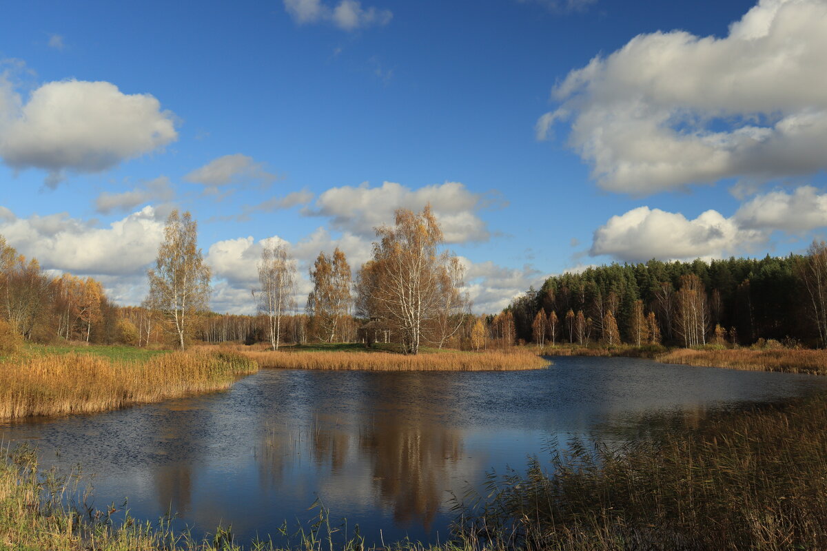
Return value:
[(147, 271), (151, 302), (164, 312), (181, 349), (194, 329), (196, 311), (207, 308), (210, 295), (210, 269), (197, 240), (198, 222), (189, 212), (170, 212), (155, 268)]

